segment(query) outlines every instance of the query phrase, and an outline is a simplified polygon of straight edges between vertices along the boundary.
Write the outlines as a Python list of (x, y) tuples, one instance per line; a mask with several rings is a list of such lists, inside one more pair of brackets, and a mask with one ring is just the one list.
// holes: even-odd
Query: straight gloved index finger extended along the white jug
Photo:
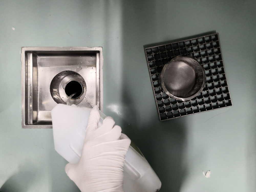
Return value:
[(90, 135), (94, 130), (97, 129), (98, 123), (100, 121), (100, 113), (99, 113), (99, 107), (95, 105), (90, 113), (87, 129), (86, 129), (86, 137)]

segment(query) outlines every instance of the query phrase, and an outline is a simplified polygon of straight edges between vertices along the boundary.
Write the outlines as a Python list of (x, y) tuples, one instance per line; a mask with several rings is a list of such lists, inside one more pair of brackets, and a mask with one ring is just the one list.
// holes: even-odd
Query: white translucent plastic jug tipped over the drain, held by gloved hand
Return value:
[[(71, 164), (80, 159), (90, 111), (90, 108), (64, 104), (56, 105), (51, 111), (55, 150)], [(105, 118), (102, 112), (100, 116), (99, 125)], [(159, 178), (138, 148), (131, 145), (124, 162), (124, 191), (158, 191)]]

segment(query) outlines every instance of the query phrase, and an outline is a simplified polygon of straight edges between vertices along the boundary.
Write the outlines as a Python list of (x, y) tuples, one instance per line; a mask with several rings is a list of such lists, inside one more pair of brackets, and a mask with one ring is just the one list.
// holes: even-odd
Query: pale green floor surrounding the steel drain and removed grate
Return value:
[[(255, 10), (253, 0), (0, 0), (1, 191), (79, 191), (52, 130), (21, 128), (21, 47), (100, 46), (103, 111), (141, 149), (160, 191), (255, 192)], [(233, 106), (160, 122), (143, 46), (212, 31)]]

